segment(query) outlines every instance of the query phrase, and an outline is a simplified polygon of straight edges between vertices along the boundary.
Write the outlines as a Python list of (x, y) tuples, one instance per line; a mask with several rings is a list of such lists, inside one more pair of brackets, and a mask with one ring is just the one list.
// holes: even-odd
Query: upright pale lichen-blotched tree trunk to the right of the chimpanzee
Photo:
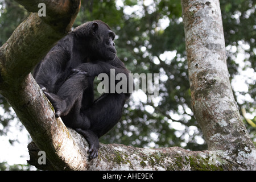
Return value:
[(229, 82), (220, 3), (218, 0), (181, 2), (192, 109), (208, 150), (232, 156), (244, 169), (255, 169), (255, 147), (243, 125)]

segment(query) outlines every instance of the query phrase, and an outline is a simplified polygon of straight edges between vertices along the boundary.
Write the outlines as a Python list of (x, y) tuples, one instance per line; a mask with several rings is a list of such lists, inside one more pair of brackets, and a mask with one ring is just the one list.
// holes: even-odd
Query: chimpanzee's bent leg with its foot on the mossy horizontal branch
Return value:
[(89, 119), (90, 127), (86, 130), (77, 128), (76, 131), (88, 141), (90, 159), (98, 156), (98, 139), (112, 129), (121, 118), (125, 100), (125, 94), (102, 94), (88, 109), (81, 111), (83, 118)]

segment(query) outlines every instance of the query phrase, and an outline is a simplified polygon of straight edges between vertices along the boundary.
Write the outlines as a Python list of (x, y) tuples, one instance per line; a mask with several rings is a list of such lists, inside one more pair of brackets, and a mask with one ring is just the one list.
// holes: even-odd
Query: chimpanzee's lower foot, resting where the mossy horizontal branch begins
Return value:
[(89, 143), (89, 150), (88, 153), (90, 159), (97, 158), (98, 156), (98, 148), (100, 148), (100, 142), (98, 141), (98, 137), (93, 131), (90, 130), (82, 130), (82, 129), (75, 129), (77, 133), (81, 134)]

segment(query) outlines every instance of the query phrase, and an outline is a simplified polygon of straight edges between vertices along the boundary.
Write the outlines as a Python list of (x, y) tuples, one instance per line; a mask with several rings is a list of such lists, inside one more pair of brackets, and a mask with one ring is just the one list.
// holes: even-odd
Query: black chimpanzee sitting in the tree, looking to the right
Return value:
[[(57, 42), (34, 69), (33, 76), (66, 126), (88, 141), (89, 158), (98, 156), (98, 139), (119, 121), (130, 94), (104, 93), (94, 100), (93, 81), (100, 73), (129, 71), (116, 56), (115, 34), (95, 20), (75, 28)], [(117, 81), (115, 81), (117, 84)], [(127, 86), (128, 88), (128, 86)]]

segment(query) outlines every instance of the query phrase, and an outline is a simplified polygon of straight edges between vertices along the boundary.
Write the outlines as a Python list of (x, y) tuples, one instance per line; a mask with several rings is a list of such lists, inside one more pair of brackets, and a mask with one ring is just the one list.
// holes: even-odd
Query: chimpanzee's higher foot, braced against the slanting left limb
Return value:
[[(43, 90), (43, 89), (42, 89)], [(61, 100), (59, 96), (57, 96), (54, 93), (48, 93), (43, 91), (48, 100), (52, 103), (54, 109), (55, 109), (55, 117), (59, 118), (61, 114), (63, 113), (63, 106), (65, 105), (65, 102)]]

